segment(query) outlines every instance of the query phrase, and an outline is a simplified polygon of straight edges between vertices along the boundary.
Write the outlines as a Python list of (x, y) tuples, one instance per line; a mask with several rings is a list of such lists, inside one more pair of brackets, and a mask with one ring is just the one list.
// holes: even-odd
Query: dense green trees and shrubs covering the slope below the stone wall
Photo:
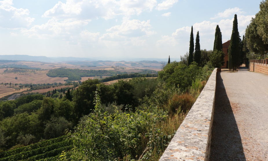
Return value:
[[(68, 90), (62, 98), (53, 97), (61, 92), (58, 89), (50, 97), (34, 94), (2, 101), (0, 147), (19, 149), (62, 136), (68, 129), (72, 130), (69, 136), (74, 149), (63, 153), (62, 160), (157, 160), (210, 71), (207, 65), (201, 68), (196, 63), (187, 66), (172, 62), (159, 72), (157, 79), (137, 77), (109, 86), (97, 79), (87, 80), (75, 90)], [(70, 149), (55, 150), (58, 146), (53, 146), (46, 147), (47, 152), (42, 154), (38, 150), (27, 154), (23, 151), (23, 156), (59, 156), (61, 151)], [(11, 155), (22, 157), (17, 153), (8, 156)]]

